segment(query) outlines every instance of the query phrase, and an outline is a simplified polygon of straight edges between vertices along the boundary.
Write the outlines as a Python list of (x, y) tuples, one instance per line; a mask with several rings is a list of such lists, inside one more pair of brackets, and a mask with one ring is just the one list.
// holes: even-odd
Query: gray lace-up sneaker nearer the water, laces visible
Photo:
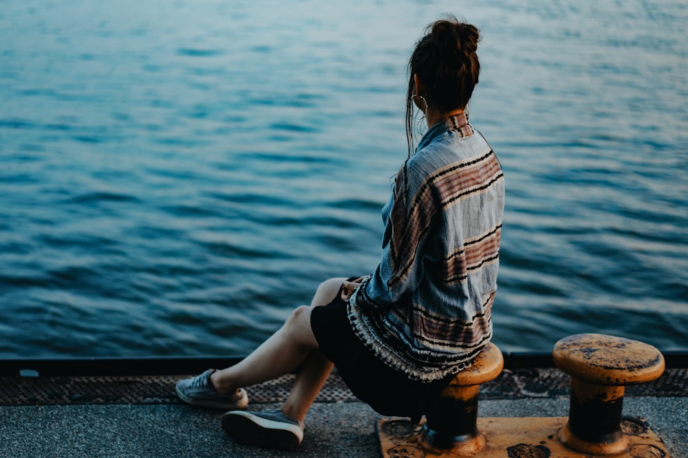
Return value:
[(248, 395), (243, 388), (237, 389), (231, 394), (222, 394), (215, 391), (211, 383), (211, 374), (215, 369), (208, 369), (200, 376), (184, 378), (177, 382), (177, 396), (189, 404), (215, 409), (235, 410), (246, 409)]

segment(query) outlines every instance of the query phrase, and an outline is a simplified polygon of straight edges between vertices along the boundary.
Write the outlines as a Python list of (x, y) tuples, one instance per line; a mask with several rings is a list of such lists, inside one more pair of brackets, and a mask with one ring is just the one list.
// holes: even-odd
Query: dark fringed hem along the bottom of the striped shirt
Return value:
[[(379, 313), (381, 306), (371, 301), (365, 294), (365, 284), (354, 292), (347, 304), (347, 315), (354, 329), (354, 333), (361, 339), (364, 345), (371, 348), (373, 352), (386, 365), (393, 369), (403, 371), (412, 380), (420, 382), (433, 382), (444, 377), (458, 374), (460, 371), (469, 367), (475, 356), (480, 353), (492, 337), (492, 326), (490, 332), (484, 336), (479, 343), (465, 348), (465, 352), (452, 354), (442, 354), (432, 350), (417, 350), (406, 348), (403, 345), (394, 345), (394, 341), (384, 339), (376, 332), (374, 321), (370, 313)], [(359, 305), (361, 304), (361, 305)], [(369, 310), (366, 310), (368, 308)], [(416, 354), (413, 358), (411, 354)], [(425, 361), (425, 363), (419, 363)]]

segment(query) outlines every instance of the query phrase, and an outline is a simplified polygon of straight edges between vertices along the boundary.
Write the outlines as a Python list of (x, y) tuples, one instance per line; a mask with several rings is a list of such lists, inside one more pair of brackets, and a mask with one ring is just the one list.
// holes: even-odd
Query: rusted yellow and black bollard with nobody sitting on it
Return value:
[(621, 432), (624, 387), (662, 375), (659, 350), (621, 337), (577, 334), (558, 341), (552, 356), (571, 376), (568, 423), (559, 431), (562, 444), (592, 455), (627, 450), (628, 438)]

